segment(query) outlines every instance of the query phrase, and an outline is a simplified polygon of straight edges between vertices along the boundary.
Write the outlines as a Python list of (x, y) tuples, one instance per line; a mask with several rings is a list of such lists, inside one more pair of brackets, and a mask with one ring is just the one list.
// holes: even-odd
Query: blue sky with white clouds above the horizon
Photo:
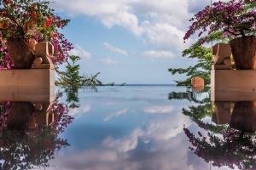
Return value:
[(56, 13), (70, 19), (62, 31), (82, 57), (81, 73), (102, 82), (173, 84), (169, 68), (187, 67), (182, 57), (189, 19), (210, 0), (55, 0)]

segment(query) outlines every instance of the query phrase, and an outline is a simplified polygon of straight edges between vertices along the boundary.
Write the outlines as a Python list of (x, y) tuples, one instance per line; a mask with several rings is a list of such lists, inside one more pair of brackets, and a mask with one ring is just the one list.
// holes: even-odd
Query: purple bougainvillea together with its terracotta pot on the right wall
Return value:
[[(207, 42), (212, 32), (222, 31), (230, 39), (230, 47), (236, 69), (256, 68), (256, 2), (255, 0), (231, 0), (213, 3), (189, 20), (192, 25), (183, 37), (184, 41), (199, 31), (200, 43)], [(204, 34), (205, 33), (205, 34)]]

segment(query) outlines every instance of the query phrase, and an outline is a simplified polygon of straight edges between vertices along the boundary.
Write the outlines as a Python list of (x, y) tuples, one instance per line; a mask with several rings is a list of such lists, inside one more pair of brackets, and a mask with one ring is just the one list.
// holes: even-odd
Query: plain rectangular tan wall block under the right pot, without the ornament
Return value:
[(256, 71), (212, 70), (212, 101), (256, 100)]

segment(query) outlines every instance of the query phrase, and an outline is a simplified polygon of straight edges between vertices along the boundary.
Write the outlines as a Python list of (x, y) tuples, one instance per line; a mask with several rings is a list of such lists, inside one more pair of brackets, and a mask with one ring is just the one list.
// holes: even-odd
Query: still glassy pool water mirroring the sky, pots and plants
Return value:
[(56, 89), (0, 104), (0, 169), (256, 169), (256, 103), (172, 86)]

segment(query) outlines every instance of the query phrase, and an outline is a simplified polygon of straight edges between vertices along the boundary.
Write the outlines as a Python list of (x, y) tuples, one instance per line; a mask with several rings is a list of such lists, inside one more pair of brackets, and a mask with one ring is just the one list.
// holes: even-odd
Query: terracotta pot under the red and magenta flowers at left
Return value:
[(30, 69), (34, 61), (34, 40), (12, 39), (8, 42), (9, 57), (15, 69)]

